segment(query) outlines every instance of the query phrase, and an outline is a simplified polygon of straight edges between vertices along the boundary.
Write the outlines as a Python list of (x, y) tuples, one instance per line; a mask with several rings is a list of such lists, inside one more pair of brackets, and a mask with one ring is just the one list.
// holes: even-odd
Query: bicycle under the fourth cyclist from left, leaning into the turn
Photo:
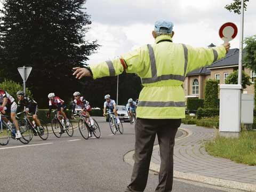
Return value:
[(101, 136), (101, 132), (100, 132), (100, 127), (99, 124), (97, 123), (97, 121), (95, 119), (93, 119), (94, 124), (91, 125), (89, 116), (83, 114), (83, 111), (74, 114), (74, 116), (79, 115), (80, 119), (78, 121), (78, 129), (79, 132), (81, 133), (82, 137), (84, 139), (88, 139), (89, 138), (89, 133), (93, 133), (95, 138), (99, 139)]

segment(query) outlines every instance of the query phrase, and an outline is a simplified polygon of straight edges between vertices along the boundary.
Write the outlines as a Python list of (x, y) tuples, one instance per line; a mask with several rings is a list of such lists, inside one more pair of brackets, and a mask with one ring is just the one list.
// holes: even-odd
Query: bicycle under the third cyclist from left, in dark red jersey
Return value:
[(54, 113), (54, 117), (51, 121), (52, 132), (57, 137), (60, 138), (63, 133), (67, 133), (69, 137), (72, 137), (74, 134), (74, 128), (71, 122), (69, 122), (69, 126), (66, 125), (66, 121), (63, 116), (59, 114), (58, 118), (58, 110), (52, 111)]

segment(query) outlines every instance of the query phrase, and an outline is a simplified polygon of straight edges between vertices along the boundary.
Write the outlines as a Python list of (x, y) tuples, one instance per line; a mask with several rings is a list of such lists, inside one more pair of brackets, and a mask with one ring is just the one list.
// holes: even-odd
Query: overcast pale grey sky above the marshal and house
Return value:
[[(158, 19), (174, 23), (175, 43), (192, 46), (207, 46), (222, 43), (218, 35), (220, 26), (234, 22), (238, 27), (237, 37), (231, 48), (239, 47), (240, 16), (224, 7), (231, 0), (87, 0), (85, 7), (91, 15), (92, 25), (86, 34), (89, 40), (97, 39), (101, 45), (91, 55), (93, 64), (114, 58), (148, 43), (154, 43), (151, 31)], [(256, 1), (248, 3), (245, 12), (244, 35), (255, 35)]]

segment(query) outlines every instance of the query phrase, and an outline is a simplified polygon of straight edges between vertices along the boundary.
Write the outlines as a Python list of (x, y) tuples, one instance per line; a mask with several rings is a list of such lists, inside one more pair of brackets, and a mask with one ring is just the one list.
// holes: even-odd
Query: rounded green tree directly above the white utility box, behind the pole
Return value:
[[(242, 72), (242, 87), (243, 89), (246, 88), (247, 85), (251, 85), (251, 81), (250, 81), (251, 77), (249, 75), (247, 75), (246, 73), (244, 73), (244, 71)], [(230, 73), (228, 75), (228, 77), (225, 80), (225, 84), (238, 84), (238, 70), (235, 70), (233, 73)]]

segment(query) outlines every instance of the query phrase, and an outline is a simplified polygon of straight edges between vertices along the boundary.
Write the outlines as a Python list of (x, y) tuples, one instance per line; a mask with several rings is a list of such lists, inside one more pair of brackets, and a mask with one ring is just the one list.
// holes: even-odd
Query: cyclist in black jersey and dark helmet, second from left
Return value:
[[(17, 98), (18, 98), (18, 110), (24, 109), (26, 111), (26, 114), (31, 114), (34, 121), (36, 122), (36, 125), (39, 127), (40, 130), (43, 130), (43, 127), (41, 125), (41, 122), (39, 121), (37, 117), (38, 112), (38, 105), (37, 102), (25, 95), (23, 91), (17, 92)], [(34, 135), (36, 135), (36, 132), (34, 132)]]

